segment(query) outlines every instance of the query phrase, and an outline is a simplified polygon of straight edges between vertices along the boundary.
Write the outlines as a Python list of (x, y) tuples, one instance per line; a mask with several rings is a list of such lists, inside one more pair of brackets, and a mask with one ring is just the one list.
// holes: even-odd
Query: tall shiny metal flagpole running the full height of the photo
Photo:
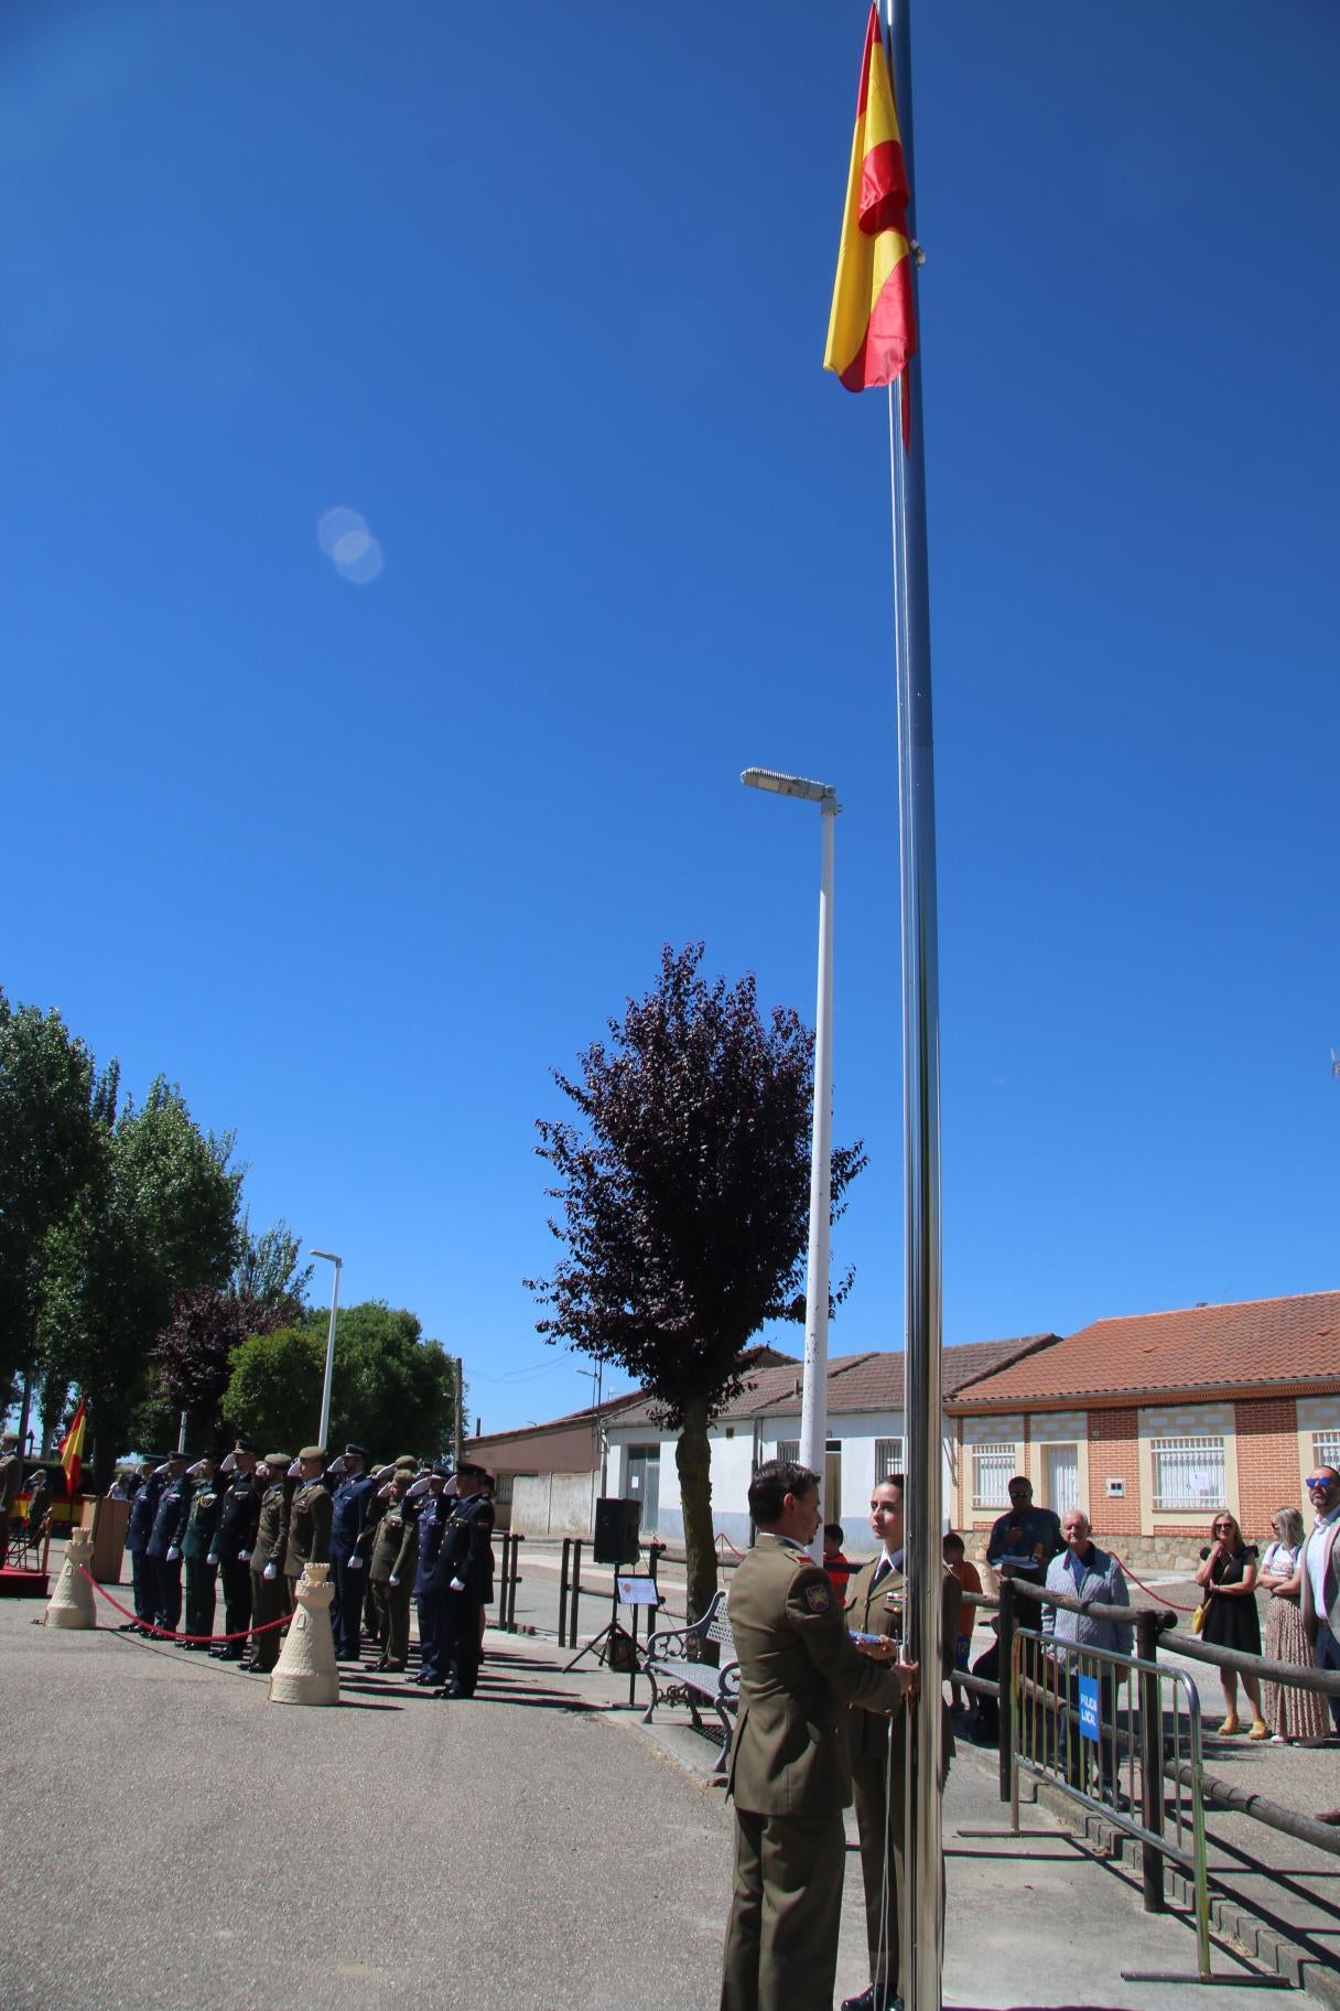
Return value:
[[(886, 0), (898, 129), (908, 171), (912, 302), (920, 330), (916, 171), (912, 149), (912, 0)], [(944, 1945), (940, 1774), (940, 979), (936, 931), (934, 736), (930, 712), (930, 579), (926, 467), (922, 456), (920, 340), (908, 362), (912, 446), (904, 450), (898, 400), (888, 392), (894, 491), (898, 660), (898, 841), (902, 865), (902, 1146), (906, 1315), (906, 1567), (908, 1637), (920, 1663), (920, 1703), (906, 1713), (908, 1804), (900, 1931), (908, 2011), (940, 2011)]]

